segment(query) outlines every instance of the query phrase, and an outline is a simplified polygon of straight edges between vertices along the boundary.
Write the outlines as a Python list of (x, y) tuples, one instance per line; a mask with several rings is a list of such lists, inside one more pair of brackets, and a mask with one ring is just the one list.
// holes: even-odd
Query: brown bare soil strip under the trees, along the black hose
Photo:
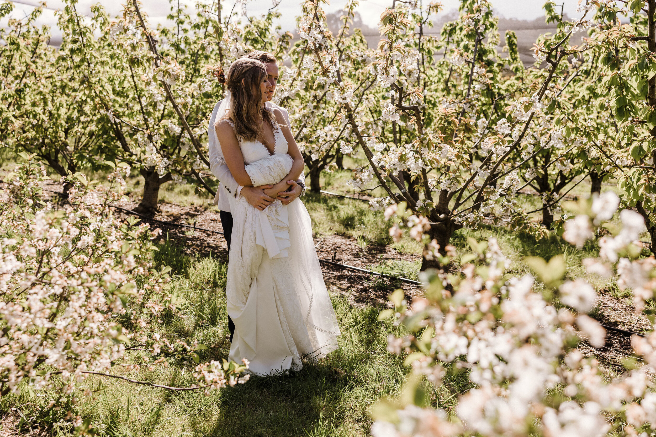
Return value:
[[(128, 204), (124, 207), (133, 206), (136, 204)], [(198, 227), (213, 231), (223, 230), (217, 212), (198, 206), (182, 207), (165, 203), (160, 204), (160, 208), (161, 212), (155, 216), (156, 219), (186, 225), (195, 223)], [(228, 248), (224, 237), (220, 234), (167, 227), (161, 223), (152, 223), (152, 225), (160, 227), (164, 234), (168, 231), (169, 238), (178, 241), (189, 253), (207, 255), (211, 252), (226, 261), (228, 259)], [(372, 265), (386, 260), (416, 261), (419, 258), (413, 254), (402, 254), (390, 246), (369, 244), (363, 248), (355, 238), (342, 235), (316, 238), (315, 245), (319, 259), (328, 259), (361, 269), (371, 269)], [(322, 263), (321, 268), (329, 291), (346, 296), (349, 303), (357, 307), (367, 305), (389, 307), (388, 295), (396, 288), (403, 289), (410, 299), (422, 294), (419, 286), (398, 280), (360, 273), (327, 263)], [(617, 299), (608, 292), (600, 292), (595, 317), (607, 326), (632, 332), (650, 331), (651, 324), (646, 316), (644, 314), (636, 316), (634, 310), (634, 306), (627, 303), (627, 299)], [(593, 348), (582, 344), (581, 351), (588, 356), (596, 356), (602, 366), (611, 372), (622, 373), (623, 362), (631, 356), (630, 335), (608, 330), (604, 347)]]

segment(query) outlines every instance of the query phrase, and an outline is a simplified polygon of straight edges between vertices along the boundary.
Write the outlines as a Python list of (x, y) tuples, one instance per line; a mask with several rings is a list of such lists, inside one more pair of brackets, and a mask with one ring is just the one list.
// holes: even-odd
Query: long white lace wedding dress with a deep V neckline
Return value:
[[(260, 142), (240, 141), (253, 185), (274, 184), (289, 171), (287, 140), (274, 128), (274, 154)], [(235, 324), (230, 360), (247, 358), (249, 371), (272, 375), (300, 370), (337, 349), (340, 334), (300, 199), (276, 200), (264, 211), (230, 197), (234, 225), (228, 261), (228, 314)]]

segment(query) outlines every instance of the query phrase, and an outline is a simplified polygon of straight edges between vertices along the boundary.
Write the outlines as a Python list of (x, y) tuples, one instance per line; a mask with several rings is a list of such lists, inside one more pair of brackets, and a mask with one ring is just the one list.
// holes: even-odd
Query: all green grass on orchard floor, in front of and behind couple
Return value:
[[(353, 164), (350, 162), (350, 164)], [(353, 166), (350, 165), (349, 166)], [(322, 187), (329, 191), (348, 193), (348, 170), (322, 174)], [(96, 178), (97, 179), (97, 178)], [(129, 191), (139, 195), (143, 187), (140, 176), (130, 178)], [(604, 190), (609, 189), (604, 185)], [(587, 190), (587, 191), (586, 191)], [(579, 193), (580, 191), (580, 193)], [(589, 192), (581, 184), (572, 193)], [(527, 208), (541, 206), (537, 197), (523, 196)], [(208, 195), (195, 193), (192, 185), (173, 182), (161, 187), (160, 201), (180, 206), (209, 206)], [(392, 243), (388, 223), (382, 212), (370, 210), (365, 202), (308, 194), (303, 199), (312, 216), (313, 232), (317, 237), (340, 234), (356, 239), (366, 250), (369, 244), (390, 244), (405, 254), (420, 254), (422, 247), (409, 237)], [(470, 252), (468, 238), (486, 240), (495, 237), (501, 250), (510, 259), (511, 275), (531, 273), (524, 258), (541, 256), (550, 259), (564, 254), (567, 276), (583, 276), (598, 290), (626, 298), (617, 286), (581, 270), (581, 259), (594, 257), (598, 248), (588, 244), (576, 250), (561, 238), (535, 238), (505, 228), (482, 225), (477, 229), (461, 229), (451, 238), (459, 254)], [(154, 331), (175, 335), (188, 343), (194, 340), (209, 346), (200, 351), (201, 360), (227, 358), (230, 344), (226, 339), (227, 313), (225, 303), (226, 265), (212, 257), (192, 257), (168, 238), (155, 252), (156, 265), (170, 265), (173, 281), (169, 290), (176, 295), (182, 316), (165, 320)], [(382, 261), (371, 269), (388, 275), (417, 278), (420, 261)], [(372, 287), (377, 286), (372, 282)], [(339, 349), (318, 364), (308, 364), (303, 370), (286, 376), (255, 377), (245, 385), (211, 392), (169, 392), (152, 387), (135, 386), (103, 377), (87, 379), (79, 387), (79, 402), (75, 411), (91, 418), (101, 435), (108, 436), (367, 436), (371, 420), (367, 408), (384, 396), (398, 394), (407, 368), (402, 358), (386, 352), (387, 337), (399, 334), (391, 322), (376, 320), (379, 309), (354, 308), (342, 297), (332, 297), (342, 335)], [(651, 303), (650, 303), (651, 305)], [(656, 304), (654, 304), (656, 305)], [(142, 362), (142, 352), (133, 352), (125, 364)], [(174, 386), (188, 386), (195, 363), (186, 358), (171, 358), (167, 368), (149, 371), (124, 371), (121, 375), (156, 381)], [(117, 372), (120, 370), (116, 370)], [(467, 389), (466, 374), (448, 375), (439, 389), (426, 387), (432, 406), (452, 410), (457, 396)], [(91, 390), (84, 396), (83, 390)], [(61, 413), (45, 411), (46, 396), (26, 384), (16, 395), (0, 404), (2, 411), (21, 406), (28, 417), (45, 414), (63, 417)], [(68, 435), (68, 430), (55, 426), (54, 435)]]

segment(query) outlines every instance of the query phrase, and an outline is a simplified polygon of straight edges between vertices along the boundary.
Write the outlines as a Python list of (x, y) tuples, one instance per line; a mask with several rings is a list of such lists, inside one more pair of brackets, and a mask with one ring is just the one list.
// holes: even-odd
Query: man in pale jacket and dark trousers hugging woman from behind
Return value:
[[(280, 107), (273, 102), (274, 92), (276, 92), (276, 85), (278, 81), (278, 65), (277, 59), (274, 55), (268, 52), (262, 52), (256, 50), (250, 52), (246, 56), (247, 58), (255, 59), (266, 66), (266, 80), (268, 81), (268, 102), (266, 102), (267, 107), (274, 107), (280, 109), (285, 116), (285, 121), (287, 121), (287, 126), (291, 127), (289, 123), (289, 113), (287, 109)], [(223, 156), (221, 152), (221, 145), (216, 141), (216, 135), (214, 134), (214, 124), (216, 122), (216, 113), (218, 112), (218, 107), (221, 105), (219, 101), (212, 111), (212, 115), (209, 119), (209, 128), (207, 133), (209, 134), (209, 164), (212, 169), (212, 173), (218, 179), (218, 189), (216, 189), (216, 197), (214, 198), (214, 204), (218, 206), (220, 210), (219, 217), (221, 219), (221, 225), (223, 227), (224, 237), (226, 238), (226, 243), (228, 244), (228, 254), (230, 254), (230, 237), (232, 236), (232, 213), (230, 212), (230, 202), (228, 201), (228, 196), (239, 197), (243, 196), (251, 205), (258, 208), (258, 210), (264, 210), (267, 206), (273, 202), (274, 198), (269, 197), (264, 193), (264, 190), (269, 189), (272, 185), (260, 185), (259, 187), (242, 187), (237, 184), (235, 178), (230, 174), (228, 165), (225, 162), (220, 162), (220, 158)], [(298, 181), (289, 181), (289, 189), (284, 193), (281, 193), (277, 199), (279, 199), (283, 204), (289, 204), (297, 197), (305, 194), (305, 176), (300, 175)], [(230, 342), (232, 342), (232, 335), (235, 333), (235, 324), (232, 322), (230, 316), (228, 316), (228, 330), (230, 330)]]

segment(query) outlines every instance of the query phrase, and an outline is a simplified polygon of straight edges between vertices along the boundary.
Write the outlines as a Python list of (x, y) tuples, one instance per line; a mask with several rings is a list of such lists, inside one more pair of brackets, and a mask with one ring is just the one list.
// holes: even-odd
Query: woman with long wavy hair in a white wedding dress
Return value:
[[(279, 109), (269, 109), (266, 66), (236, 60), (215, 132), (239, 185), (273, 185), (276, 199), (296, 181), (303, 158)], [(235, 324), (230, 359), (249, 360), (256, 375), (300, 370), (337, 349), (340, 331), (312, 240), (310, 216), (300, 199), (276, 200), (263, 211), (229, 197), (234, 218), (226, 295)]]

